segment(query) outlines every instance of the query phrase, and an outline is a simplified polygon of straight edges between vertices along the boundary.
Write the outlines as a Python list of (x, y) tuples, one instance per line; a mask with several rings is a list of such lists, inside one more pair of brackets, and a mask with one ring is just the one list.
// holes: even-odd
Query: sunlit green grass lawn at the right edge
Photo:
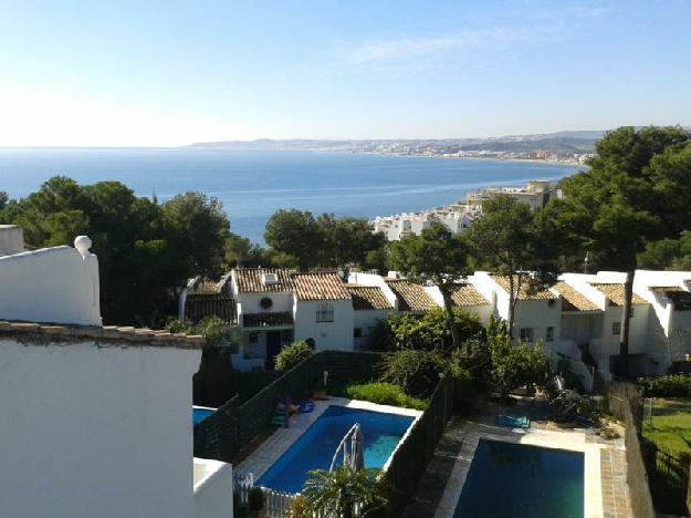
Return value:
[(643, 419), (643, 436), (670, 453), (691, 453), (691, 400), (656, 397), (652, 422)]

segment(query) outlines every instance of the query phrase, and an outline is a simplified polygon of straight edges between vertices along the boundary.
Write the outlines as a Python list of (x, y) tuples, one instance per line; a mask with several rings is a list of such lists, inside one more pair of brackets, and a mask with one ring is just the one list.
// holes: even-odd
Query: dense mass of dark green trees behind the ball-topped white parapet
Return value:
[(229, 236), (220, 203), (202, 194), (159, 205), (119, 182), (82, 186), (60, 176), (7, 203), (0, 221), (21, 226), (33, 247), (90, 236), (101, 269), (103, 319), (118, 324), (160, 324), (187, 278), (222, 271)]

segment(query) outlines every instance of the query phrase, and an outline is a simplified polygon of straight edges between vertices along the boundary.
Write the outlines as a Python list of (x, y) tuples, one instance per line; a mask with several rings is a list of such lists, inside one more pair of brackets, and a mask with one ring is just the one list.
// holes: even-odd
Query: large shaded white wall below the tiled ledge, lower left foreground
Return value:
[(192, 516), (200, 350), (0, 336), (0, 516)]

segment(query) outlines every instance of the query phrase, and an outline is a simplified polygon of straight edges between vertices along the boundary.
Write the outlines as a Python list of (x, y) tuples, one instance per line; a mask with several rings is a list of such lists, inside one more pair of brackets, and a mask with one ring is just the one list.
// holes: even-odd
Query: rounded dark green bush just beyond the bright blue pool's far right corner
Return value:
[(384, 360), (381, 381), (398, 385), (410, 396), (429, 397), (449, 365), (450, 362), (439, 353), (398, 351)]

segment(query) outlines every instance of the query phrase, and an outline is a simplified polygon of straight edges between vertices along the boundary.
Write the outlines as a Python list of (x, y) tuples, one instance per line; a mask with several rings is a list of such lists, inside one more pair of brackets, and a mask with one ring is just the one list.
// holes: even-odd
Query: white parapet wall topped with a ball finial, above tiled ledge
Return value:
[(98, 259), (88, 246), (0, 257), (0, 320), (101, 325)]

